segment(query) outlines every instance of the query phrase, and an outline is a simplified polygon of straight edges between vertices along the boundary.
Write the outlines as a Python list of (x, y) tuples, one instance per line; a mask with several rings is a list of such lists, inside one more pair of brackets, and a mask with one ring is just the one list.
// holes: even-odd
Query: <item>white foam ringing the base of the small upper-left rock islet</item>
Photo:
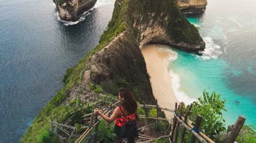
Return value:
[(95, 8), (98, 8), (99, 6), (103, 6), (103, 5), (105, 5), (105, 4), (106, 4), (106, 0), (98, 0), (98, 1), (95, 3), (95, 5), (94, 5), (93, 8), (91, 8), (90, 10), (84, 12), (83, 15), (79, 18), (79, 20), (74, 21), (74, 22), (73, 22), (73, 21), (65, 21), (65, 20), (60, 19), (58, 12), (56, 12), (56, 15), (57, 15), (58, 20), (60, 20), (61, 22), (63, 22), (65, 26), (72, 26), (72, 25), (76, 25), (77, 23), (79, 23), (79, 22), (83, 21), (84, 19), (86, 19), (85, 16), (87, 16), (88, 14), (90, 14), (90, 11), (91, 11), (91, 10), (93, 10), (93, 9), (95, 9)]

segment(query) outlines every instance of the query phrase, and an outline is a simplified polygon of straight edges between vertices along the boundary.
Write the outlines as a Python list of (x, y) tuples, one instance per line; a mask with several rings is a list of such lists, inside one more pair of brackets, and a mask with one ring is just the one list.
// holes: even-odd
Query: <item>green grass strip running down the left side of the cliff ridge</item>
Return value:
[(116, 3), (113, 16), (108, 25), (108, 30), (102, 34), (99, 45), (91, 50), (86, 57), (82, 58), (79, 63), (67, 70), (66, 75), (63, 77), (63, 87), (56, 93), (56, 96), (41, 109), (36, 115), (32, 125), (27, 129), (26, 133), (22, 136), (21, 142), (59, 142), (58, 139), (49, 132), (50, 116), (55, 118), (58, 116), (59, 122), (66, 121), (70, 113), (75, 110), (66, 105), (61, 105), (66, 100), (69, 89), (80, 82), (80, 73), (86, 67), (87, 58), (97, 51), (100, 51), (104, 46), (109, 44), (115, 38), (115, 35), (120, 34), (127, 28), (127, 23), (124, 22), (124, 13), (126, 11), (126, 3), (120, 6)]

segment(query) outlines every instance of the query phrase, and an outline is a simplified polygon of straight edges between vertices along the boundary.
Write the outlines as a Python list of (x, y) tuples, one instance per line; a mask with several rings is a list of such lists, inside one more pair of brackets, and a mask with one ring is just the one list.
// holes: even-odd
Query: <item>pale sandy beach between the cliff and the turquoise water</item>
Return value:
[[(156, 47), (161, 45), (144, 45), (141, 52), (146, 62), (147, 73), (150, 75), (150, 81), (154, 97), (161, 107), (174, 109), (175, 102), (179, 103), (172, 88), (172, 77), (168, 72), (165, 62), (166, 58), (172, 56), (172, 53), (160, 52)], [(164, 111), (167, 118), (172, 114)]]

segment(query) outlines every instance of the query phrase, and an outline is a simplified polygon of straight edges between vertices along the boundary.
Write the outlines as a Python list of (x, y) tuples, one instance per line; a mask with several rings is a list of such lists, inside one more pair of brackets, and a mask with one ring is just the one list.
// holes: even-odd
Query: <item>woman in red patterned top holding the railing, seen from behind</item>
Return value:
[[(127, 137), (128, 142), (135, 142), (135, 137), (138, 137), (136, 121), (138, 121), (137, 103), (133, 96), (133, 93), (126, 88), (122, 88), (118, 95), (119, 101), (122, 105), (116, 107), (115, 111), (111, 117), (105, 116), (98, 109), (94, 109), (94, 113), (100, 115), (106, 122), (112, 123), (116, 120), (115, 133), (117, 136), (117, 142), (123, 142), (124, 130), (129, 130), (130, 127), (125, 126), (125, 124), (132, 124), (135, 126), (132, 131), (131, 137)], [(125, 129), (122, 128), (125, 126)], [(130, 130), (131, 131), (131, 130)], [(127, 131), (126, 131), (127, 132)]]

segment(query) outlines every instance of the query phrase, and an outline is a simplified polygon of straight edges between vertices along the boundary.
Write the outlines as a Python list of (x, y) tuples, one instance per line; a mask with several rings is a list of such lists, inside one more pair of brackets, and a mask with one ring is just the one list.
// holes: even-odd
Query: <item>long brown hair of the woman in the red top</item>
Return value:
[(122, 106), (124, 107), (125, 111), (128, 114), (135, 114), (138, 106), (132, 91), (127, 88), (121, 88), (119, 93), (120, 93), (120, 97), (124, 98), (124, 102), (122, 103)]

